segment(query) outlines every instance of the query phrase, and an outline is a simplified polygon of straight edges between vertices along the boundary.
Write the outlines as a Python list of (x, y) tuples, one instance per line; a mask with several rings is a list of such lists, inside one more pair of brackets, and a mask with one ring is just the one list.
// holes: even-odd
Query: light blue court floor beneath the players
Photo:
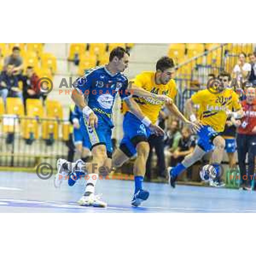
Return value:
[(256, 212), (256, 192), (198, 186), (144, 183), (150, 192), (141, 207), (131, 207), (134, 184), (125, 180), (99, 180), (97, 193), (108, 203), (105, 209), (81, 207), (76, 201), (84, 180), (74, 187), (53, 186), (53, 176), (41, 180), (34, 173), (0, 172), (0, 212)]

